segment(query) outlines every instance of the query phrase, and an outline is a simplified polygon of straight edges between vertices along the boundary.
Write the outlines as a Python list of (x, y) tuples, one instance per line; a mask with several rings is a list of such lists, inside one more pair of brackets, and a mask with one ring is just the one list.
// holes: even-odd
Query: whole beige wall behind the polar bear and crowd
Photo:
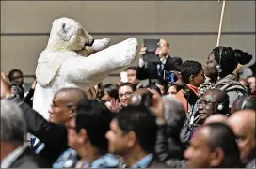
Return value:
[[(51, 23), (70, 17), (94, 38), (166, 38), (170, 54), (204, 63), (216, 46), (222, 3), (216, 1), (1, 1), (1, 71), (35, 73), (46, 47)], [(221, 45), (253, 54), (255, 1), (227, 1)], [(136, 65), (136, 62), (133, 65)], [(119, 73), (114, 72), (114, 74)], [(110, 76), (104, 83), (116, 82)]]

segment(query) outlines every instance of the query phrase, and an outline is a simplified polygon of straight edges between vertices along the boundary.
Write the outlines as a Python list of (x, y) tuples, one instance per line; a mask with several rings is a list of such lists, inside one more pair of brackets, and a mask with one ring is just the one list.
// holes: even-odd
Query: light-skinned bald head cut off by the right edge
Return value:
[(241, 160), (248, 162), (254, 156), (255, 146), (255, 111), (240, 110), (228, 119), (228, 124), (238, 138)]

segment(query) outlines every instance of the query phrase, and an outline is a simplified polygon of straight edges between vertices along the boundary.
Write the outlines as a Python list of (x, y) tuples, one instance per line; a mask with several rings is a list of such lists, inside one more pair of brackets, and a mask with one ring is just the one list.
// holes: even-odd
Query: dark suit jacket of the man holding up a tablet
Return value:
[[(182, 65), (183, 60), (180, 57), (170, 57), (168, 56), (166, 64), (164, 65), (164, 70), (180, 70), (180, 66)], [(158, 75), (157, 65), (162, 63), (151, 63), (148, 62), (142, 68), (137, 67), (136, 70), (136, 78), (139, 80), (145, 79), (162, 79), (163, 71), (161, 72), (161, 76)]]

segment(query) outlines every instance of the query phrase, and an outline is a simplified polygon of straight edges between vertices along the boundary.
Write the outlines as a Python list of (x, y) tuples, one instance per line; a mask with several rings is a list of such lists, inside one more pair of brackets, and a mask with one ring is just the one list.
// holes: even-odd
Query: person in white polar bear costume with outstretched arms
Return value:
[[(104, 38), (94, 42), (80, 23), (69, 18), (56, 19), (48, 45), (38, 60), (33, 108), (48, 120), (48, 110), (57, 90), (65, 87), (87, 90), (135, 60), (136, 38), (104, 49), (108, 41)], [(82, 53), (88, 46), (99, 52), (85, 57)]]

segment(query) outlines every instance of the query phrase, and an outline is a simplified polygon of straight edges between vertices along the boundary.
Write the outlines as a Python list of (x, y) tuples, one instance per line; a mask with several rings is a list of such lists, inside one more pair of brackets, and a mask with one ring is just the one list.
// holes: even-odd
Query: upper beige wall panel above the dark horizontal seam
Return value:
[[(4, 1), (2, 32), (48, 32), (58, 17), (83, 23), (92, 32), (217, 31), (216, 1)], [(255, 3), (227, 1), (223, 31), (255, 31)]]

